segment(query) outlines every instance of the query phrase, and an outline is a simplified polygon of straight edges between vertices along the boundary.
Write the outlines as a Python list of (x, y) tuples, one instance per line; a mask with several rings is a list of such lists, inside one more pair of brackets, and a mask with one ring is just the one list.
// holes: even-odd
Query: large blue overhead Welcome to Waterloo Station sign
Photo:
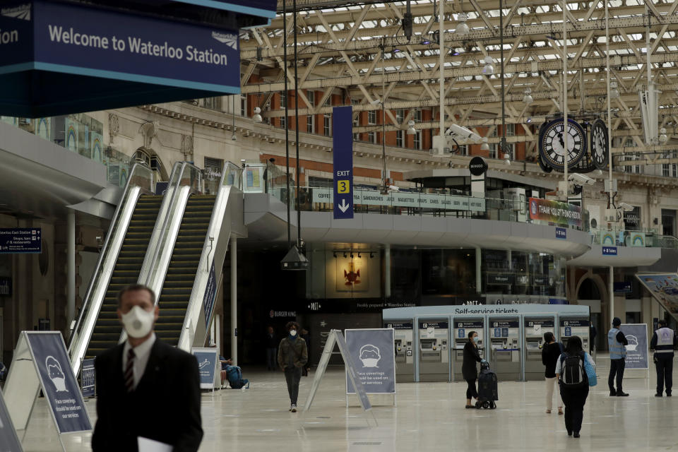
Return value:
[(44, 0), (5, 1), (0, 9), (0, 114), (54, 116), (239, 93), (236, 23)]

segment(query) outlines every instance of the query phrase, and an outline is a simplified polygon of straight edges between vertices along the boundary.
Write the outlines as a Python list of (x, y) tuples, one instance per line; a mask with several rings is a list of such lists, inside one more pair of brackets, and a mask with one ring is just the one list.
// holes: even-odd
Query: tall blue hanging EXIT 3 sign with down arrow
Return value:
[(334, 218), (353, 218), (353, 107), (333, 107)]

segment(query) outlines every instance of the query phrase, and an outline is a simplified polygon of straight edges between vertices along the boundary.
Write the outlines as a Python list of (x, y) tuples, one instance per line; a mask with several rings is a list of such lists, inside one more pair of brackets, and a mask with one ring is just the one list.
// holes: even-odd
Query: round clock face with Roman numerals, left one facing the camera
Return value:
[(567, 129), (564, 130), (563, 119), (554, 119), (542, 129), (539, 155), (546, 165), (563, 170), (567, 158), (570, 169), (578, 164), (585, 153), (586, 134), (577, 121), (568, 118)]

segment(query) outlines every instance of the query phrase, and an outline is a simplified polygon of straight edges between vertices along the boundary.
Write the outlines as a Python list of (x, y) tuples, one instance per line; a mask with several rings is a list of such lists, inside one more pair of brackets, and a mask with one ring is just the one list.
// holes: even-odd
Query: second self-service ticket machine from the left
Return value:
[(419, 381), (450, 381), (449, 322), (419, 321)]

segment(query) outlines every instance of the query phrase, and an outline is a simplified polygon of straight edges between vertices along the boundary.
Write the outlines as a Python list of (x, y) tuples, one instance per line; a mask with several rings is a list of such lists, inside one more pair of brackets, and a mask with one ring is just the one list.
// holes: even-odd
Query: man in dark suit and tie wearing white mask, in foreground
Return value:
[(95, 452), (136, 452), (138, 437), (169, 444), (174, 452), (194, 452), (200, 446), (198, 362), (157, 340), (153, 325), (158, 313), (148, 287), (131, 285), (120, 291), (118, 317), (127, 340), (95, 360)]

